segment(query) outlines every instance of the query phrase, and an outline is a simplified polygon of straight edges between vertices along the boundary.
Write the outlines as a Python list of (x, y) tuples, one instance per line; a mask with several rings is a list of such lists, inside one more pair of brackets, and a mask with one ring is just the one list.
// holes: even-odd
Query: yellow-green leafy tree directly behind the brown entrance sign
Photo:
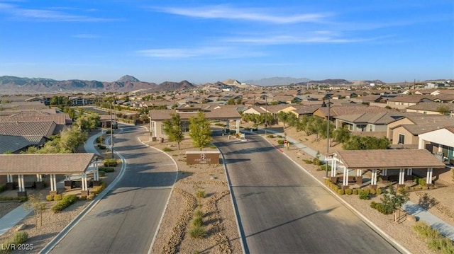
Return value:
[(204, 112), (197, 113), (197, 117), (189, 118), (189, 136), (192, 144), (200, 151), (211, 142), (210, 122)]

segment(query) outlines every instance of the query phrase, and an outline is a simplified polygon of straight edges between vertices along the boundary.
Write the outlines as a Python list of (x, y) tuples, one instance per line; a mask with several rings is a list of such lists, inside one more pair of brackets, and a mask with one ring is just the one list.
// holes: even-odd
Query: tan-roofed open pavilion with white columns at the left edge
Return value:
[[(43, 189), (43, 176), (50, 177), (50, 195), (57, 194), (56, 175), (80, 175), (81, 195), (88, 195), (87, 171), (93, 171), (94, 185), (99, 183), (98, 157), (95, 154), (1, 154), (0, 175), (6, 175), (6, 189), (18, 188), (18, 196), (27, 195), (26, 187)], [(26, 175), (35, 175), (35, 180), (27, 182)], [(66, 183), (65, 183), (66, 185)]]

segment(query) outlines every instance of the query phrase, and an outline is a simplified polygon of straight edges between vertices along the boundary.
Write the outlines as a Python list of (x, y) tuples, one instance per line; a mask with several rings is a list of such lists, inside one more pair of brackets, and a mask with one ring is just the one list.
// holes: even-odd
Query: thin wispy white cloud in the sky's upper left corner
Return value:
[(9, 18), (20, 21), (50, 21), (50, 22), (105, 22), (116, 21), (114, 18), (96, 18), (67, 13), (33, 8), (20, 8), (13, 4), (1, 4), (0, 13), (6, 13)]

